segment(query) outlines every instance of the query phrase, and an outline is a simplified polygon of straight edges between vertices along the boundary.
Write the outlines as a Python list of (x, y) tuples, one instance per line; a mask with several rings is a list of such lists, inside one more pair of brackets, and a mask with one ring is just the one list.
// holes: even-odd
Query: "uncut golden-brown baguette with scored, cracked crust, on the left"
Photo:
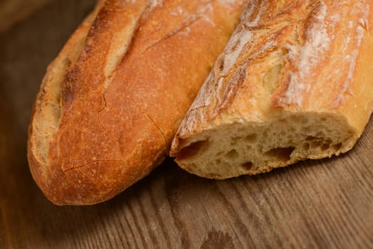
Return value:
[(160, 164), (243, 5), (105, 1), (48, 67), (36, 99), (28, 161), (44, 194), (98, 203)]

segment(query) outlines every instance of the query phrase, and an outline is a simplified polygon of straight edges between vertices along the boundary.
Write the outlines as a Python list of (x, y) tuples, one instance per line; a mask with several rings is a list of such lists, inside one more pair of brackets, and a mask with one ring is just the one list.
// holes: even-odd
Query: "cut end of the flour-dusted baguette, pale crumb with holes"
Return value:
[(303, 112), (260, 123), (228, 124), (187, 140), (177, 138), (171, 154), (193, 174), (227, 179), (339, 155), (352, 149), (358, 137), (358, 132), (336, 115)]

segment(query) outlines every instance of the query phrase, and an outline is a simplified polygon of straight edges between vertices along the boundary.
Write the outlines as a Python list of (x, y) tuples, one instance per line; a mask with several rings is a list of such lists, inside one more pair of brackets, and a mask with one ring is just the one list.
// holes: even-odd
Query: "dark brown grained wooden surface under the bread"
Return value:
[(0, 34), (0, 248), (373, 248), (373, 120), (342, 157), (228, 181), (168, 159), (106, 203), (50, 203), (28, 171), (31, 105), (93, 4), (54, 1)]

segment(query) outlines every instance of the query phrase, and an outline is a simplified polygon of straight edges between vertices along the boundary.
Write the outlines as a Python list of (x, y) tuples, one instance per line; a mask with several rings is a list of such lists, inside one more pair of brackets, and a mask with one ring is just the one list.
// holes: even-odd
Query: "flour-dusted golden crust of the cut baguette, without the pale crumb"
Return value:
[[(368, 0), (249, 1), (179, 127), (170, 154), (177, 157), (197, 137), (231, 124), (260, 126), (281, 117), (315, 114), (348, 127), (351, 134), (343, 146), (262, 170), (350, 150), (373, 110), (372, 13)], [(196, 173), (197, 165), (192, 168), (178, 157), (177, 162), (207, 176)]]

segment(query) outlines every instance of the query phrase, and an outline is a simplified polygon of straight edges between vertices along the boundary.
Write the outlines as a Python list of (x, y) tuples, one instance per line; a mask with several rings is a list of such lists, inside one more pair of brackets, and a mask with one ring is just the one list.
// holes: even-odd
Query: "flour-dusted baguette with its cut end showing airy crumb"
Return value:
[(212, 179), (352, 149), (373, 108), (373, 1), (248, 1), (170, 154)]

